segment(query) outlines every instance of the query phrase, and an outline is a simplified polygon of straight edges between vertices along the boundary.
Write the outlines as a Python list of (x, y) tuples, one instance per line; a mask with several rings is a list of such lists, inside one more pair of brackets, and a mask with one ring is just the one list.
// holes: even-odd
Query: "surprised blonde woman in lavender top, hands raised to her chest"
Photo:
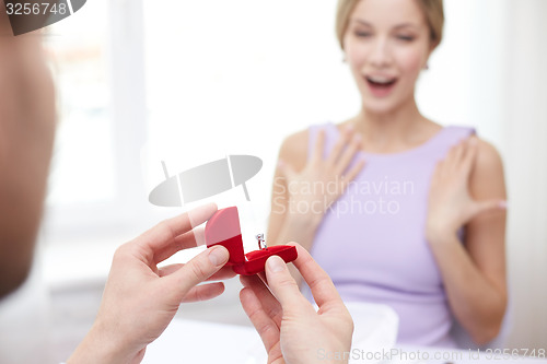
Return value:
[(490, 144), (416, 105), (443, 22), (442, 0), (339, 0), (362, 107), (283, 142), (268, 240), (310, 249), (346, 301), (391, 305), (399, 342), (450, 348), (454, 319), (477, 344), (499, 332), (505, 186)]

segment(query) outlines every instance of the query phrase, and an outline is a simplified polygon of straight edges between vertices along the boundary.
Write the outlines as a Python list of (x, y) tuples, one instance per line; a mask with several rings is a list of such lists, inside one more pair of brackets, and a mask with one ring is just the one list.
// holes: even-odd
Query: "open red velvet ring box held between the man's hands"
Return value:
[(264, 271), (266, 260), (279, 256), (286, 262), (298, 257), (296, 247), (276, 245), (245, 254), (240, 226), (240, 214), (236, 207), (217, 211), (206, 224), (205, 237), (207, 247), (222, 245), (230, 253), (226, 266), (237, 274), (253, 275)]

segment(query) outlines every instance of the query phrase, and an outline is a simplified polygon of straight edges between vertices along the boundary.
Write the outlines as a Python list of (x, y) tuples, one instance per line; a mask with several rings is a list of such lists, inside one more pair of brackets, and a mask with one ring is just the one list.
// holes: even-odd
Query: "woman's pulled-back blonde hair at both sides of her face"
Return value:
[[(340, 48), (344, 50), (344, 35), (348, 30), (349, 17), (356, 5), (361, 0), (338, 0), (338, 9), (336, 12), (336, 36)], [(431, 44), (437, 47), (443, 37), (444, 10), (443, 0), (416, 0), (418, 5), (426, 15), (430, 30)]]

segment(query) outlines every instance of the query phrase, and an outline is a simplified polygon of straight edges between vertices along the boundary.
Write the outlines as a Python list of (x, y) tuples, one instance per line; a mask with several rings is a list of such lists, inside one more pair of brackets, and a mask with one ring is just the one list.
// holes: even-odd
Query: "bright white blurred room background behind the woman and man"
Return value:
[[(442, 125), (476, 127), (500, 151), (509, 192), (505, 347), (546, 349), (547, 1), (444, 4), (445, 37), (419, 81), (419, 107)], [(335, 9), (336, 0), (92, 0), (47, 28), (59, 125), (40, 254), (12, 297), (13, 340), (34, 327), (51, 360), (66, 360), (93, 321), (116, 247), (196, 206), (148, 202), (165, 178), (161, 161), (175, 174), (229, 154), (259, 156), (251, 202), (241, 188), (211, 199), (240, 207), (245, 243), (255, 245), (283, 138), (360, 107)], [(245, 325), (238, 284), (181, 315)]]

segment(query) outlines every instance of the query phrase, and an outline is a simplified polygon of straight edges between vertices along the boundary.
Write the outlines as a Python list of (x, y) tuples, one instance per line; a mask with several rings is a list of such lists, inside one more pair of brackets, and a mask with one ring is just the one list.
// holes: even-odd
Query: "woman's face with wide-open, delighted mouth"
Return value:
[(431, 51), (430, 30), (415, 0), (361, 0), (344, 46), (366, 110), (391, 113), (414, 99)]

